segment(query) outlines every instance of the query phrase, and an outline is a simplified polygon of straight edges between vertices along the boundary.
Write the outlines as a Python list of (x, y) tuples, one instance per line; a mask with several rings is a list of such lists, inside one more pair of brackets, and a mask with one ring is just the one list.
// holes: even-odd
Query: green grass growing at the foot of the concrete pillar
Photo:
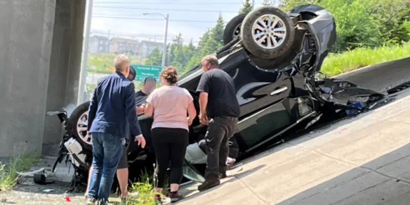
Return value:
[(9, 190), (16, 185), (18, 174), (30, 169), (33, 163), (39, 161), (35, 154), (13, 157), (9, 163), (0, 162), (0, 191)]

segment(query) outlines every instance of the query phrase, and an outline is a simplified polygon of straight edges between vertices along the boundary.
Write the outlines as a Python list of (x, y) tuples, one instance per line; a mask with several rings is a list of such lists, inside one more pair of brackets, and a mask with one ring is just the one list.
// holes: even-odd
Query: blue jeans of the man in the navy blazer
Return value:
[(107, 133), (92, 133), (91, 139), (94, 169), (88, 196), (107, 202), (122, 155), (122, 138)]

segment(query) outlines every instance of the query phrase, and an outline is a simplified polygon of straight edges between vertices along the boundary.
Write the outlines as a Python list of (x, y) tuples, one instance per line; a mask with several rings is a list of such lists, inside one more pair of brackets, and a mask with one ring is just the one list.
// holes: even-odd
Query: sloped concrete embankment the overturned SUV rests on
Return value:
[[(338, 76), (385, 91), (410, 80), (410, 58)], [(183, 186), (178, 204), (410, 204), (410, 89), (375, 110), (242, 161), (221, 185)]]

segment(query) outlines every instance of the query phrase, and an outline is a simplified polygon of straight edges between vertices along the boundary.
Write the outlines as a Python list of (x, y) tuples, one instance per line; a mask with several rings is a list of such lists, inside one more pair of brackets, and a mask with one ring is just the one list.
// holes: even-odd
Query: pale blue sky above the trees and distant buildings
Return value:
[[(262, 2), (263, 0), (255, 0), (255, 6), (261, 6)], [(154, 36), (156, 36), (157, 42), (163, 42), (165, 20), (108, 17), (163, 19), (158, 15), (144, 16), (142, 14), (148, 12), (166, 15), (168, 13), (170, 15), (168, 40), (180, 32), (186, 42), (189, 42), (191, 38), (194, 42), (197, 42), (208, 28), (215, 25), (214, 22), (216, 22), (219, 13), (227, 22), (238, 14), (237, 12), (241, 7), (241, 0), (94, 0), (94, 17), (92, 18), (91, 30), (131, 33), (140, 39), (151, 37), (151, 40), (154, 40)], [(183, 10), (202, 10), (202, 12)], [(212, 12), (204, 12), (203, 10)], [(201, 20), (203, 22), (178, 22), (173, 20)]]

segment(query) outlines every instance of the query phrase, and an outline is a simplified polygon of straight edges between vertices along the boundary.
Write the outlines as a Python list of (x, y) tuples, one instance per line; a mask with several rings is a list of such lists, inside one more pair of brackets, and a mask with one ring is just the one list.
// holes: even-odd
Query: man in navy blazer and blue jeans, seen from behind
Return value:
[[(138, 146), (145, 147), (135, 108), (135, 87), (127, 77), (130, 60), (118, 55), (114, 60), (115, 72), (102, 78), (95, 88), (88, 112), (88, 132), (92, 135), (93, 173), (87, 204), (95, 200), (108, 202), (115, 171), (122, 155), (122, 146), (131, 136)], [(129, 126), (128, 126), (128, 125)]]

